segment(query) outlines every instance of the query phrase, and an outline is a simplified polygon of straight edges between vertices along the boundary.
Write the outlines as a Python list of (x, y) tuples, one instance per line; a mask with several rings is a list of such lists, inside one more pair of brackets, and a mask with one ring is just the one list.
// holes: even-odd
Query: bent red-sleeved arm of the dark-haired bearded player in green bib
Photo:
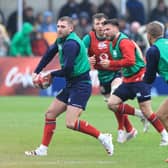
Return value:
[(123, 39), (120, 42), (120, 50), (122, 53), (122, 59), (121, 60), (105, 60), (104, 62), (101, 62), (101, 64), (104, 64), (104, 66), (107, 67), (114, 67), (114, 68), (122, 68), (122, 67), (130, 67), (135, 64), (135, 50), (136, 47), (134, 43), (129, 39)]

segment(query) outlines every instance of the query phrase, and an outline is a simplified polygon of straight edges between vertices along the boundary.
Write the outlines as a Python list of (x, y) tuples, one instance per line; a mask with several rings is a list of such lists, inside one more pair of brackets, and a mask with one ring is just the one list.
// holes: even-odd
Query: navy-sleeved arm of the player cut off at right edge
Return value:
[(158, 72), (158, 64), (160, 59), (160, 52), (157, 47), (152, 46), (146, 53), (146, 72), (144, 81), (146, 83), (153, 83)]

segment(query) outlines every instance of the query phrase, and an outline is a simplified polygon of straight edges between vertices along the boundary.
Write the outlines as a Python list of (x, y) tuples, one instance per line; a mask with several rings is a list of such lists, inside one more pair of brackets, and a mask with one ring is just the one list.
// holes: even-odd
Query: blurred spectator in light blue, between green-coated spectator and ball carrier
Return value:
[(43, 23), (39, 27), (39, 31), (41, 32), (56, 32), (57, 26), (53, 21), (53, 13), (51, 11), (45, 11), (43, 16)]

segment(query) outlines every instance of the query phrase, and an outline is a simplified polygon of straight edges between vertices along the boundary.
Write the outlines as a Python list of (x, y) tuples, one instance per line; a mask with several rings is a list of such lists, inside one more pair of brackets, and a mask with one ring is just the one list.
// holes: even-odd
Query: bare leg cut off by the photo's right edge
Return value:
[(168, 99), (166, 99), (159, 107), (159, 109), (156, 112), (156, 115), (158, 118), (162, 121), (164, 124), (166, 130), (168, 131)]

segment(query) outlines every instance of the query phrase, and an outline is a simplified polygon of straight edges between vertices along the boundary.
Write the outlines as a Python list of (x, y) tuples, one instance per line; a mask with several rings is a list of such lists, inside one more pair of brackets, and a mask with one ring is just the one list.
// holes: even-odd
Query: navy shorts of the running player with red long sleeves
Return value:
[(134, 99), (144, 102), (151, 99), (151, 85), (145, 82), (122, 83), (113, 93), (120, 97), (122, 101)]

